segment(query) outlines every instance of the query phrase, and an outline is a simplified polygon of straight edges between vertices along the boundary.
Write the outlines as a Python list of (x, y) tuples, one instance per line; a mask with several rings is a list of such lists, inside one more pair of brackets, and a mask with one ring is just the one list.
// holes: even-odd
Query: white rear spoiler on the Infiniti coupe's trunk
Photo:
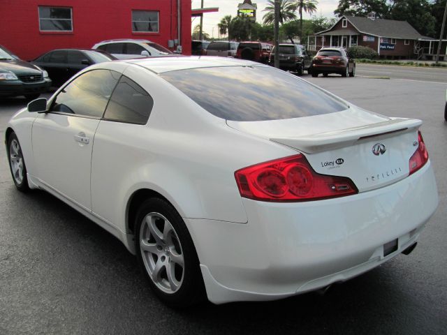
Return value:
[(285, 144), (307, 154), (349, 147), (358, 141), (371, 139), (371, 137), (392, 137), (395, 133), (414, 131), (420, 127), (422, 121), (418, 119), (390, 119), (389, 121), (369, 124), (341, 131), (319, 133), (302, 137), (275, 137), (272, 142)]

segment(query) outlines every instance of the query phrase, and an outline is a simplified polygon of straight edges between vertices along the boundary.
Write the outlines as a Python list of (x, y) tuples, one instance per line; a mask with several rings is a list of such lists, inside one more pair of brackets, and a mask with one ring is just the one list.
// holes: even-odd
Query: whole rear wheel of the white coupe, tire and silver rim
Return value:
[(134, 231), (138, 262), (155, 295), (173, 308), (203, 301), (205, 285), (196, 248), (174, 207), (159, 198), (145, 200)]

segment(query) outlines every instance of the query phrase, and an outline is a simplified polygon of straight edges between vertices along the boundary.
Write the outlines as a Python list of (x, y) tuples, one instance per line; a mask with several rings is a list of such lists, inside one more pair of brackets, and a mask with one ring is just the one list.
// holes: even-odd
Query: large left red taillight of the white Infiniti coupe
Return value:
[(240, 195), (253, 200), (298, 202), (358, 193), (349, 178), (316, 173), (302, 154), (237, 170), (235, 178)]

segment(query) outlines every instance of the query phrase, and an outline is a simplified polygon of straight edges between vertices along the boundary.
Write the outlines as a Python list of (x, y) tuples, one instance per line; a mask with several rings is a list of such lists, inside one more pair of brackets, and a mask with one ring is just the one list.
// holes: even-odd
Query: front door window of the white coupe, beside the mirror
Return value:
[(120, 74), (111, 70), (91, 70), (62, 89), (50, 112), (84, 117), (102, 117)]

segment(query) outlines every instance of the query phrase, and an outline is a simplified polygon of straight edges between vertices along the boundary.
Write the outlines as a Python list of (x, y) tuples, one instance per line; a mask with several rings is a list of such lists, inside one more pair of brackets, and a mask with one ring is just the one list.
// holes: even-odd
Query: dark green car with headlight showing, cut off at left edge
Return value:
[(47, 71), (22, 61), (0, 45), (0, 97), (24, 96), (34, 100), (50, 86)]

